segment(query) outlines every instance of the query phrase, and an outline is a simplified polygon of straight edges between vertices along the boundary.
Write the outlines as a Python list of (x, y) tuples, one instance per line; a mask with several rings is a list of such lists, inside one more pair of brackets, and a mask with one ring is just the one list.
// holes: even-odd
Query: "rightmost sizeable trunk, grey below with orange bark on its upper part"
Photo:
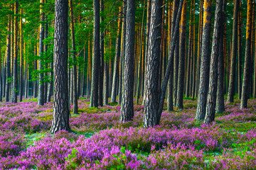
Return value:
[(242, 97), (240, 108), (247, 108), (250, 85), (250, 58), (251, 58), (251, 35), (252, 35), (252, 0), (247, 1), (247, 24), (246, 24), (246, 46), (245, 46), (245, 66), (242, 79)]

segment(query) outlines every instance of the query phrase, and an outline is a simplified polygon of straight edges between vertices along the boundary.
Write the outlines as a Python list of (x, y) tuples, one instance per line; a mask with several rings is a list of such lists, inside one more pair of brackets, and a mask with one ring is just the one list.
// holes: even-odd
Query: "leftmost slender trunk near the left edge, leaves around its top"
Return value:
[(11, 88), (11, 15), (8, 18), (8, 35), (6, 47), (6, 102), (10, 101), (9, 92)]

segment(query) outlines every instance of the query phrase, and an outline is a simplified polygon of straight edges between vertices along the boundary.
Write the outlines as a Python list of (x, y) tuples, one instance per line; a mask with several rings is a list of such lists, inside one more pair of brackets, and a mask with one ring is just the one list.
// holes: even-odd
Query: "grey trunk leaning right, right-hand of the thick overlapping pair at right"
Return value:
[(212, 123), (215, 118), (215, 105), (218, 83), (218, 52), (220, 47), (220, 29), (222, 27), (223, 18), (223, 0), (216, 1), (215, 20), (213, 30), (213, 44), (210, 56), (210, 80), (209, 91), (206, 103), (206, 118), (204, 123)]

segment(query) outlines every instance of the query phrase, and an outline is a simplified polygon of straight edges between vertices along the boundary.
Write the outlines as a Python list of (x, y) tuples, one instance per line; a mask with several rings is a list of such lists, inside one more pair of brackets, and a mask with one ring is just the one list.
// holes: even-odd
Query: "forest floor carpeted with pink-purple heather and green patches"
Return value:
[(184, 99), (183, 111), (164, 111), (161, 125), (148, 129), (141, 105), (132, 122), (119, 123), (119, 105), (78, 102), (74, 133), (55, 135), (52, 102), (0, 103), (0, 169), (256, 169), (256, 100), (243, 110), (238, 100), (225, 104), (203, 125), (194, 120), (196, 101)]

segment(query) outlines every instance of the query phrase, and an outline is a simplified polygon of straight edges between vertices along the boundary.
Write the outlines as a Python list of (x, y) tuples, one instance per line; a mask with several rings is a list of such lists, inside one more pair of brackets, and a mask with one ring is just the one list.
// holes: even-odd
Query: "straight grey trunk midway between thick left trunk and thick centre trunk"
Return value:
[(99, 63), (100, 63), (100, 0), (93, 0), (93, 57), (92, 57), (92, 90), (90, 108), (98, 106)]

